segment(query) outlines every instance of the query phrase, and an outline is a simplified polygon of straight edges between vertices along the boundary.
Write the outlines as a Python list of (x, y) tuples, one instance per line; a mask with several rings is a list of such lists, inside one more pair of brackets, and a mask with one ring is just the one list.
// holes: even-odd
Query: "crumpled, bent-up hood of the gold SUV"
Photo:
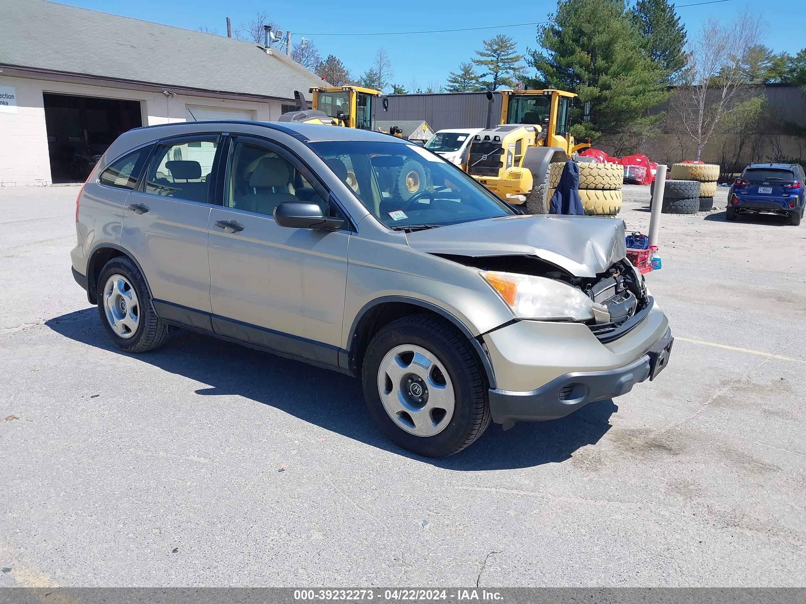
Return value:
[(595, 277), (626, 255), (624, 221), (593, 216), (506, 216), (408, 234), (430, 254), (532, 255), (571, 273)]

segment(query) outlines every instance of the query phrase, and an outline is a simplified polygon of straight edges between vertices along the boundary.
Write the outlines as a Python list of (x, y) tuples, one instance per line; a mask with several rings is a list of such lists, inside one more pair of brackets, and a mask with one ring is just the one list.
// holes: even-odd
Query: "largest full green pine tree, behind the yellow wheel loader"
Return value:
[(561, 0), (538, 43), (546, 50), (531, 53), (538, 81), (591, 103), (591, 121), (571, 134), (598, 139), (659, 120), (644, 112), (667, 99), (665, 72), (643, 51), (623, 0)]

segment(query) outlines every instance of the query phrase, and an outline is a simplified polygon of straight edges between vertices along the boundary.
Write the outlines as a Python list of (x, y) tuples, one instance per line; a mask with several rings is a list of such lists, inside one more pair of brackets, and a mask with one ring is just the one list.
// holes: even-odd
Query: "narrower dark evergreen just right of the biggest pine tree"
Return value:
[(629, 17), (646, 54), (667, 72), (668, 82), (675, 81), (686, 66), (686, 29), (675, 14), (675, 6), (668, 0), (638, 0)]

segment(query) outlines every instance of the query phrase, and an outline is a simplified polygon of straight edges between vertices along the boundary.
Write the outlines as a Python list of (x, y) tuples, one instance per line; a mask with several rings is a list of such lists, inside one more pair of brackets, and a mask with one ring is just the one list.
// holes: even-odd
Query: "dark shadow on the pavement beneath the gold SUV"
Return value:
[(612, 400), (604, 400), (560, 420), (517, 424), (506, 432), (490, 424), (462, 453), (429, 459), (400, 449), (380, 433), (364, 404), (359, 380), (347, 375), (185, 329), (171, 333), (159, 350), (127, 354), (106, 337), (94, 307), (56, 316), (45, 325), (81, 344), (210, 385), (197, 390), (197, 395), (243, 396), (367, 445), (450, 470), (502, 470), (566, 461), (577, 449), (596, 444), (618, 410)]

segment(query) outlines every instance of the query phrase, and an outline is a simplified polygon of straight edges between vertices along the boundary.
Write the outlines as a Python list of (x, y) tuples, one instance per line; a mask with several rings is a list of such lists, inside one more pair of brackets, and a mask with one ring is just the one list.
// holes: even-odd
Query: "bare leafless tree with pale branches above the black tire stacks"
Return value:
[(751, 47), (761, 43), (765, 31), (758, 15), (744, 10), (730, 26), (709, 19), (690, 39), (688, 86), (675, 109), (695, 143), (695, 159), (700, 159), (722, 116), (733, 109), (733, 97), (743, 82), (742, 60)]

